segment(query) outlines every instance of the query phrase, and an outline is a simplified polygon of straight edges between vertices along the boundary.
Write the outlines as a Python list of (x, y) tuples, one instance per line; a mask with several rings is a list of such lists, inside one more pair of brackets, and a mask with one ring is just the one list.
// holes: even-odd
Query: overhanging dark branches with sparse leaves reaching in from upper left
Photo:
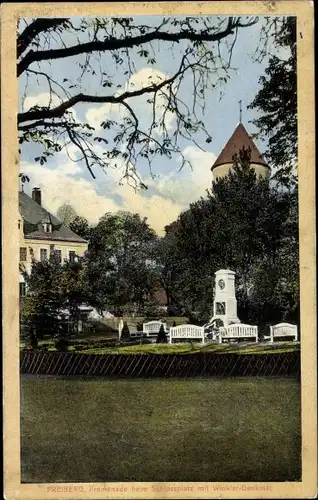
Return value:
[[(18, 113), (20, 144), (34, 141), (43, 147), (36, 161), (43, 164), (71, 145), (93, 177), (96, 166), (122, 168), (123, 178), (136, 185), (137, 162), (148, 161), (151, 168), (158, 155), (180, 155), (180, 139), (195, 141), (199, 131), (211, 141), (202, 121), (208, 92), (229, 78), (240, 31), (258, 18), (153, 19), (151, 25), (117, 17), (20, 20), (17, 75), (25, 86), (23, 97), (29, 88), (36, 94), (37, 86), (48, 94), (45, 105), (35, 102)], [(169, 75), (158, 70), (162, 57), (175, 61)], [(60, 76), (57, 64), (65, 60), (72, 70)], [(140, 61), (155, 71), (135, 85)], [(88, 79), (94, 91), (86, 90)], [(151, 114), (147, 123), (140, 98)], [(115, 116), (101, 118), (102, 132), (76, 116), (81, 105), (92, 104), (117, 106)]]

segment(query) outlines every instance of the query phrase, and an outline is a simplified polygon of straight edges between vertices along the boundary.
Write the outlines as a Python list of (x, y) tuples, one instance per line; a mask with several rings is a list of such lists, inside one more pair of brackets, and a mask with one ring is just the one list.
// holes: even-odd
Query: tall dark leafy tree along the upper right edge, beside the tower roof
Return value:
[(260, 113), (253, 123), (259, 129), (257, 135), (268, 141), (270, 164), (280, 169), (276, 177), (288, 183), (297, 165), (296, 17), (275, 19), (275, 28), (276, 53), (269, 58), (249, 108)]

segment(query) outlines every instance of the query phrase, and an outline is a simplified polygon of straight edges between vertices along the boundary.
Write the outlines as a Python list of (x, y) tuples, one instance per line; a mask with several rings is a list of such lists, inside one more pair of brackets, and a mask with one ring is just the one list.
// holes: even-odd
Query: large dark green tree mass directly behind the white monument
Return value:
[(191, 204), (174, 225), (177, 271), (172, 288), (182, 312), (191, 321), (211, 318), (218, 269), (236, 272), (243, 321), (268, 320), (273, 302), (280, 319), (295, 312), (296, 214), (297, 190), (284, 191), (258, 178), (250, 167), (249, 151), (242, 150), (230, 174), (214, 182), (207, 198)]

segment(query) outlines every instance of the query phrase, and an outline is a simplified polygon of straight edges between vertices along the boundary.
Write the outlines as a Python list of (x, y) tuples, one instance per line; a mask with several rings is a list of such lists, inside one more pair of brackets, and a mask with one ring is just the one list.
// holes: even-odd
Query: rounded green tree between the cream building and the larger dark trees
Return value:
[(157, 281), (157, 236), (138, 214), (105, 214), (90, 231), (88, 279), (92, 300), (116, 315), (143, 313)]

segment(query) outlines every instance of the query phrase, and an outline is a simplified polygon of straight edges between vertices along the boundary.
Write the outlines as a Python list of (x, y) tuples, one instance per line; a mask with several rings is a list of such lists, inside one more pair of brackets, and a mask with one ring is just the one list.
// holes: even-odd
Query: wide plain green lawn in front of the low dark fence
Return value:
[(21, 377), (22, 482), (300, 480), (291, 379)]

